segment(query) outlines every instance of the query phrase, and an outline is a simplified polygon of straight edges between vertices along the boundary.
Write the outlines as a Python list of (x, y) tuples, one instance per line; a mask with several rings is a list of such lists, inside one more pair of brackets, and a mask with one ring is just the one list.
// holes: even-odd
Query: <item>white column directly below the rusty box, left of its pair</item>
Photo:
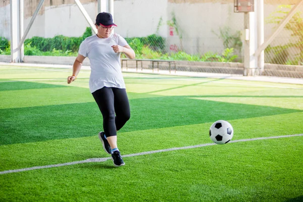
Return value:
[(254, 76), (257, 67), (256, 57), (256, 20), (255, 12), (244, 13), (244, 76)]

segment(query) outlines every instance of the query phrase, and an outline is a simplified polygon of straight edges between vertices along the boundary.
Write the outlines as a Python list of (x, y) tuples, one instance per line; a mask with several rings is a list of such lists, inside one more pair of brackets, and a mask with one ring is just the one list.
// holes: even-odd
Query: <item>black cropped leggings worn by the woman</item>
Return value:
[(92, 93), (103, 116), (103, 129), (107, 137), (117, 135), (130, 118), (125, 88), (103, 87)]

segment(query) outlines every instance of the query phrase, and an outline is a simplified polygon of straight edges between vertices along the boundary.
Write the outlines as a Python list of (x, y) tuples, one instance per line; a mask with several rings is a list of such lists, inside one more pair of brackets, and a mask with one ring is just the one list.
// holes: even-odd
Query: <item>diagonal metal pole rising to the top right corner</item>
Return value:
[(303, 0), (300, 0), (287, 14), (287, 16), (282, 20), (278, 26), (278, 28), (274, 31), (274, 33), (267, 39), (256, 51), (255, 56), (258, 57), (262, 51), (274, 40), (274, 38), (280, 33), (280, 31), (284, 28), (284, 26), (288, 23), (288, 21), (295, 14), (296, 10), (303, 4)]

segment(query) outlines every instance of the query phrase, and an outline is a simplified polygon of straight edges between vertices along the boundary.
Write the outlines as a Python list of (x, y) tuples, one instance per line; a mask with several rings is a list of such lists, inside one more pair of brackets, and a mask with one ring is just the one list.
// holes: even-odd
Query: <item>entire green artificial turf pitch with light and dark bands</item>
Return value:
[[(0, 66), (0, 172), (108, 158), (89, 71)], [(212, 143), (227, 120), (232, 140), (303, 133), (303, 86), (124, 73), (131, 119), (122, 155)], [(0, 201), (302, 201), (303, 136), (209, 145), (0, 174)]]

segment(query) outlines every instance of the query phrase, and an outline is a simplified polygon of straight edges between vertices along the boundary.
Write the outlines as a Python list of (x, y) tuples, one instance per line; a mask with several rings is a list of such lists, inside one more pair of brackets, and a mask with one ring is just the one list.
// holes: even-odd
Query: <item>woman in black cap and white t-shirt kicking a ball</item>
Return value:
[(130, 108), (125, 83), (121, 72), (120, 54), (134, 59), (135, 53), (126, 40), (118, 34), (111, 35), (114, 27), (110, 13), (99, 13), (95, 26), (97, 34), (87, 37), (79, 47), (79, 54), (73, 65), (73, 75), (67, 83), (76, 80), (82, 62), (89, 58), (91, 73), (89, 89), (103, 116), (104, 132), (99, 132), (104, 150), (112, 155), (115, 166), (123, 166), (117, 146), (117, 131), (130, 118)]

